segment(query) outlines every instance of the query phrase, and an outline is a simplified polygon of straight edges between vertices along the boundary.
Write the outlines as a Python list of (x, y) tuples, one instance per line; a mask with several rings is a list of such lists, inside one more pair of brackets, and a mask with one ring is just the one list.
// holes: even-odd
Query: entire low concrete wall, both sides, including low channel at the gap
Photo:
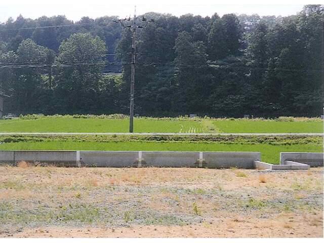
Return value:
[(261, 161), (259, 152), (184, 151), (0, 151), (0, 165), (20, 161), (63, 167), (193, 167), (308, 170), (323, 166), (323, 153), (280, 153), (280, 165)]

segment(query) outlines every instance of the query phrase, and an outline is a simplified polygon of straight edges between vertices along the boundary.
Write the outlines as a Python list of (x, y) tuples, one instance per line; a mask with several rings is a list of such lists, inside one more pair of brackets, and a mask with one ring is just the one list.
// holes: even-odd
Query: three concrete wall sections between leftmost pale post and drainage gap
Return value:
[(80, 151), (81, 166), (254, 168), (258, 152)]

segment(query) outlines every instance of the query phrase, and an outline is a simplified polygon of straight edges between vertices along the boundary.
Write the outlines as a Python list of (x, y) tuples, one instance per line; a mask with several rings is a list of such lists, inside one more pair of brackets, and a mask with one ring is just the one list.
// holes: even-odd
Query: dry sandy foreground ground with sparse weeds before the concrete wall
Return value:
[(0, 167), (0, 237), (323, 237), (323, 168)]

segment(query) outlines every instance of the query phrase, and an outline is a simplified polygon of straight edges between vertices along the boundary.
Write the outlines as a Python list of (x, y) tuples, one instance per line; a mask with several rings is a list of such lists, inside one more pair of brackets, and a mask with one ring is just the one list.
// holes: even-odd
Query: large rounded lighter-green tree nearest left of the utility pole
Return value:
[(90, 33), (72, 34), (62, 42), (54, 71), (56, 102), (64, 112), (93, 113), (97, 108), (106, 51), (105, 43)]

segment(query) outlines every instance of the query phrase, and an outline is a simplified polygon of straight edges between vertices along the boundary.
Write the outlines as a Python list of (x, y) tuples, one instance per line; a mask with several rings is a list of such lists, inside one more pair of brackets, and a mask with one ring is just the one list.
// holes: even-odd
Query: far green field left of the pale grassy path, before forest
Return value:
[[(203, 125), (191, 120), (134, 119), (137, 133), (202, 133)], [(0, 120), (0, 132), (127, 133), (129, 119), (41, 118)]]

